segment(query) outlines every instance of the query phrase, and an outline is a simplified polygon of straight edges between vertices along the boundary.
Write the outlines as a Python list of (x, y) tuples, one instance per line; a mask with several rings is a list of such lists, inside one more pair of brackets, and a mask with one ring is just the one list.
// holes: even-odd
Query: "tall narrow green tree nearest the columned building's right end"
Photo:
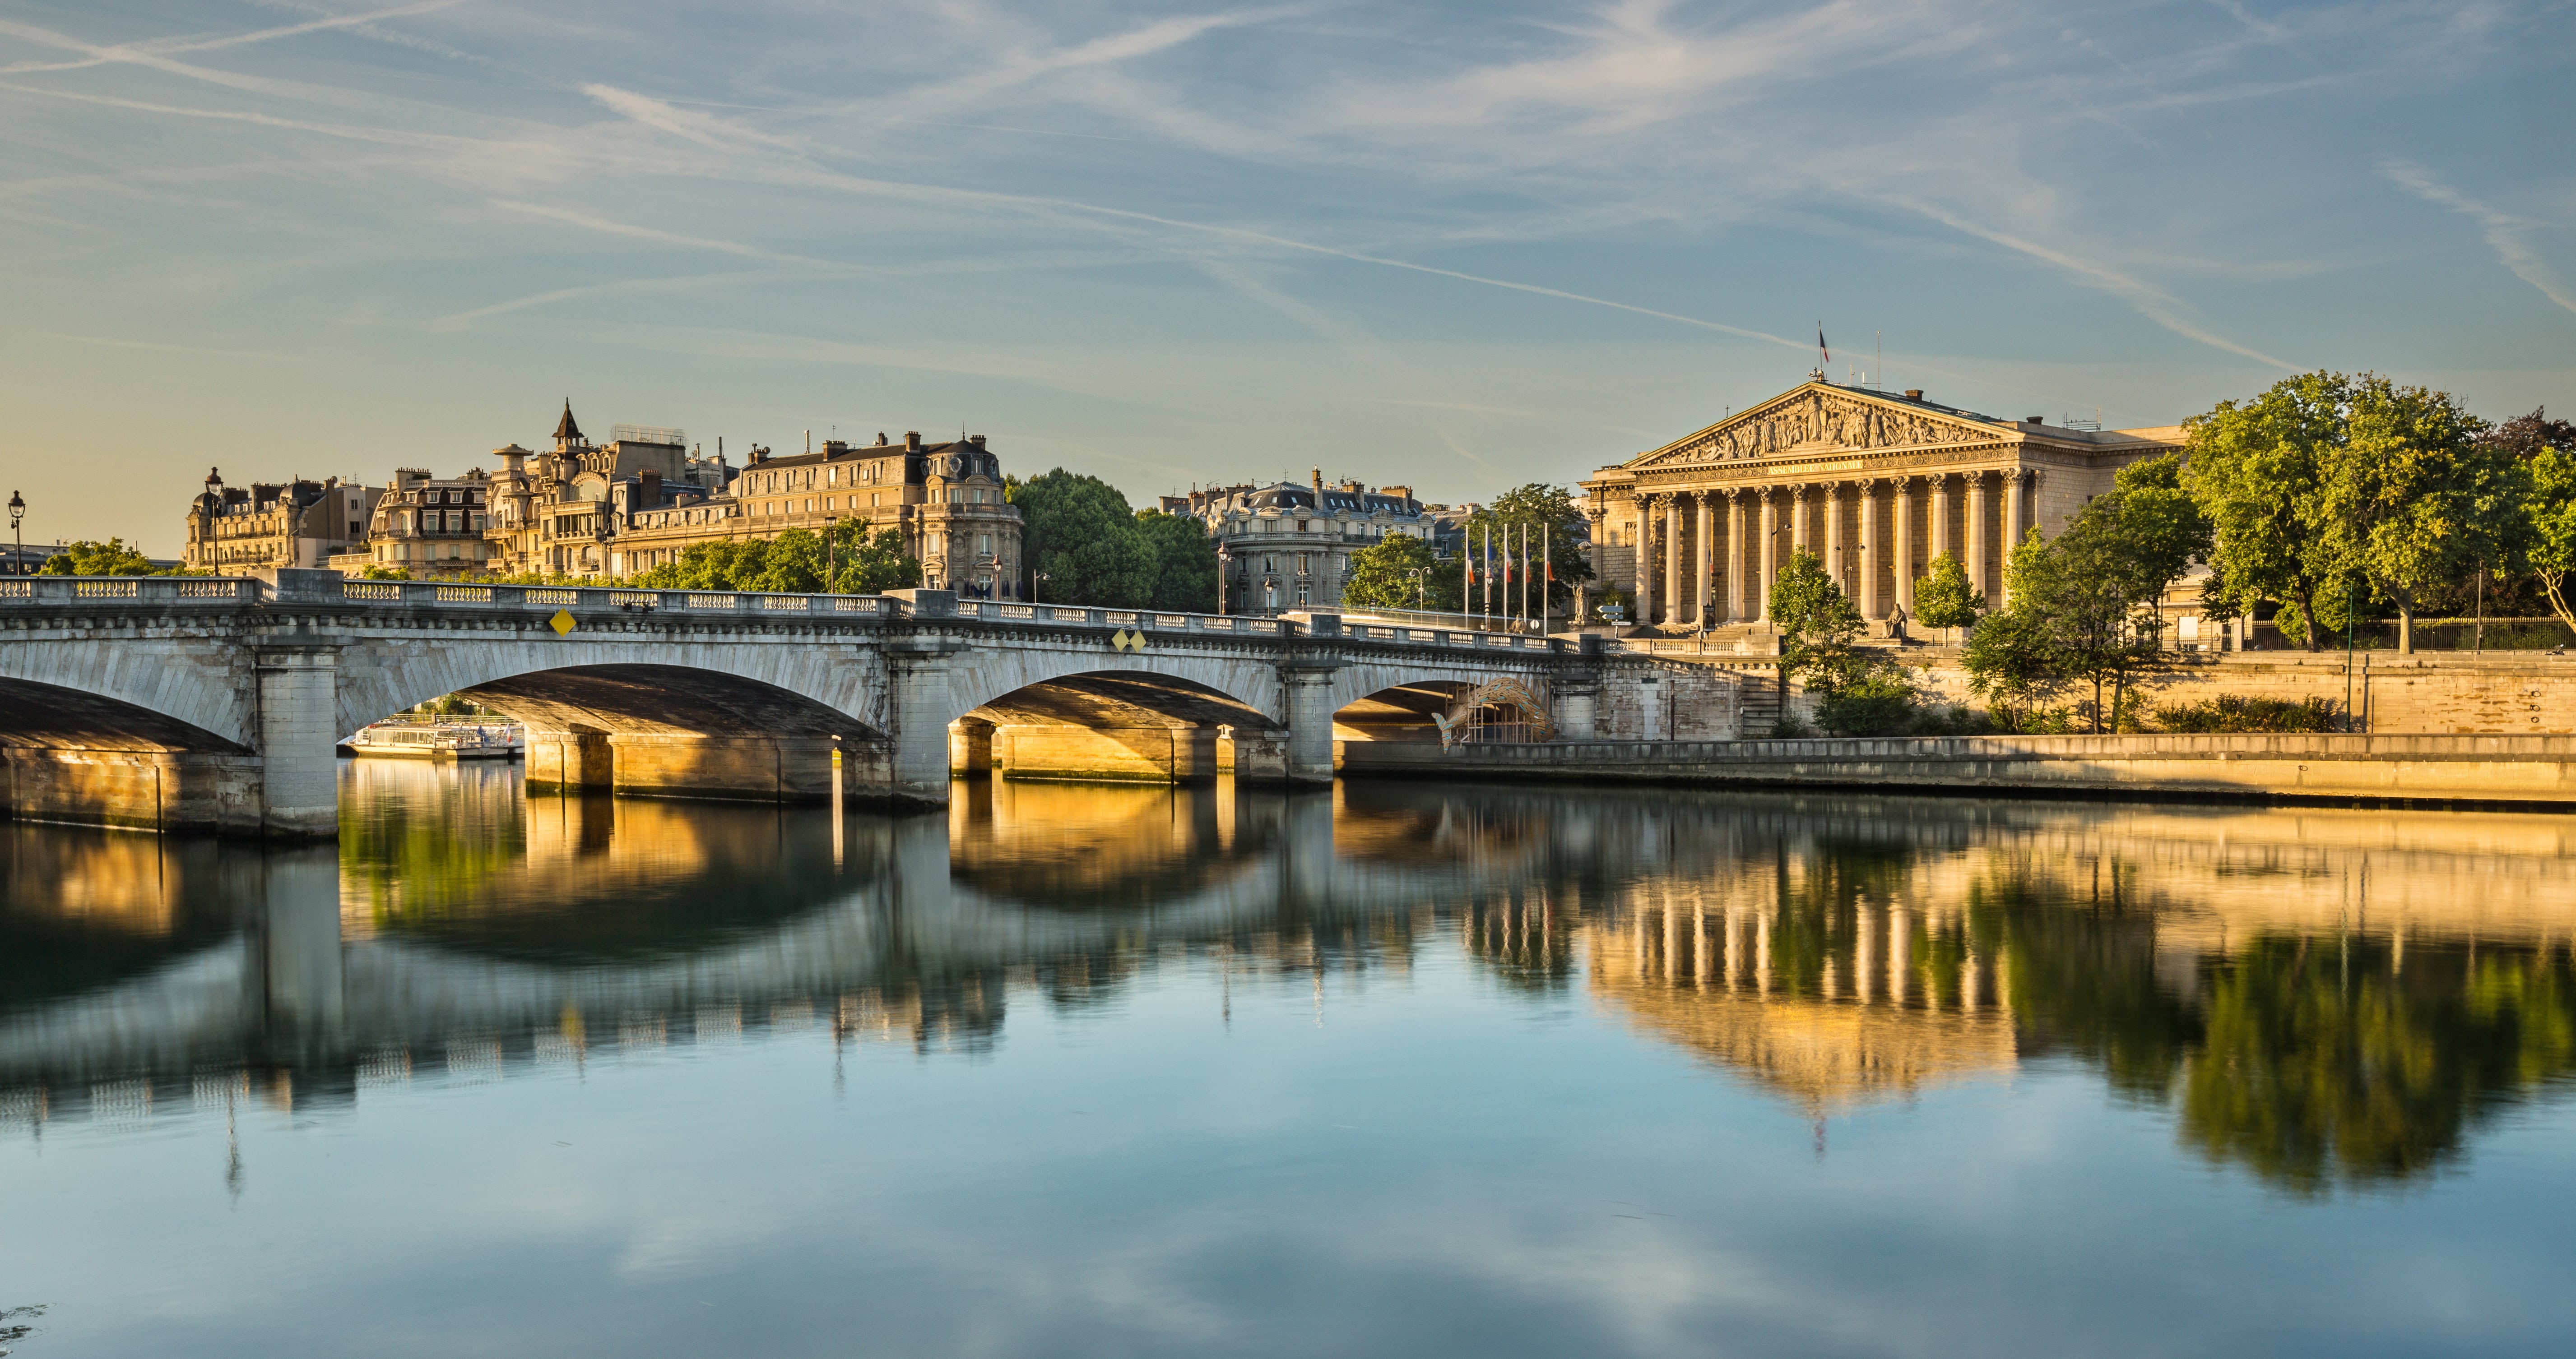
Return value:
[(2326, 546), (2326, 461), (2344, 440), (2352, 381), (2300, 373), (2246, 404), (2184, 422), (2182, 484), (2215, 530), (2210, 566), (2244, 613), (2275, 600), (2316, 651), (2316, 589), (2336, 574)]

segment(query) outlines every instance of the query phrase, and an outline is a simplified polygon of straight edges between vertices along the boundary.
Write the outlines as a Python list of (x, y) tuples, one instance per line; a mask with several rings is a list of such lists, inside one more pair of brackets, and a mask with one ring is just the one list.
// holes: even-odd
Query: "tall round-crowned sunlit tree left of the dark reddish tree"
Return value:
[(2447, 391), (2378, 373), (2349, 384), (2344, 438), (2318, 461), (2318, 546), (2398, 610), (2398, 651), (2429, 589), (2506, 556), (2519, 517), (2509, 453)]

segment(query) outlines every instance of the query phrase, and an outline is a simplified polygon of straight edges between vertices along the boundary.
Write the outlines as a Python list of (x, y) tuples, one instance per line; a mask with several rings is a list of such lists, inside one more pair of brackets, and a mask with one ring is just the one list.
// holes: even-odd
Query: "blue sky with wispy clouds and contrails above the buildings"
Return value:
[(1584, 471), (1834, 376), (2576, 409), (2576, 5), (0, 3), (31, 538), (680, 425), (1141, 499)]

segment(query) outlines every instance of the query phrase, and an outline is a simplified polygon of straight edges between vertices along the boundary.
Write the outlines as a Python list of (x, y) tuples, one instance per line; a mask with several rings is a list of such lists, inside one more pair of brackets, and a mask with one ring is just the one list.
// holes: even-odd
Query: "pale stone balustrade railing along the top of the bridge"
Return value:
[(325, 605), (325, 607), (477, 607), (528, 610), (574, 618), (608, 613), (675, 613), (688, 618), (958, 618), (976, 623), (1020, 623), (1030, 628), (1118, 628), (1136, 633), (1198, 633), (1242, 638), (1347, 638), (1394, 641), (1404, 646), (1481, 649), (1481, 651), (1561, 651), (1564, 641), (1479, 631), (1430, 628), (1417, 623), (1342, 620), (1332, 613), (1301, 618), (1249, 618), (1231, 613), (1162, 613), (1090, 605), (1018, 605), (1002, 600), (956, 600), (945, 589), (904, 589), (896, 595), (765, 595), (752, 589), (631, 589), (587, 584), (471, 584), (471, 582), (384, 582), (345, 579), (335, 571), (281, 571), (260, 577), (0, 577), (0, 607), (62, 605)]

